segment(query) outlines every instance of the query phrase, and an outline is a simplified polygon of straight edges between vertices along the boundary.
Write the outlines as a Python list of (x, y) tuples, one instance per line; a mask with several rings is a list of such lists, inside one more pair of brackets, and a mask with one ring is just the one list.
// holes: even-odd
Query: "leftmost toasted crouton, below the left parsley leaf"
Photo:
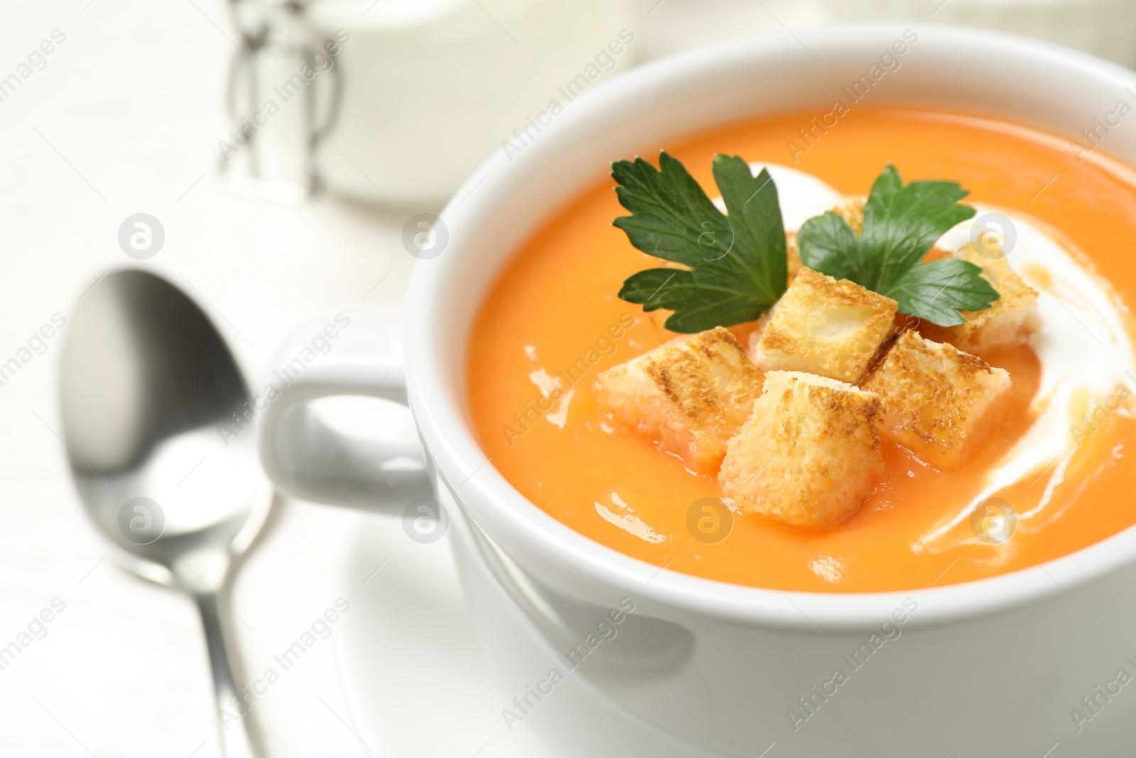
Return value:
[(596, 400), (694, 469), (713, 472), (761, 394), (762, 372), (727, 330), (655, 348), (596, 377)]

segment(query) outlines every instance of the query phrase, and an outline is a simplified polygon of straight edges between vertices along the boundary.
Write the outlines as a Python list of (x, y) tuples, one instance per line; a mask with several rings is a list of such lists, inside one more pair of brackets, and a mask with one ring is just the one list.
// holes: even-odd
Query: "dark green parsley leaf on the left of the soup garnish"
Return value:
[(619, 297), (643, 310), (675, 313), (667, 328), (693, 333), (755, 319), (785, 291), (785, 227), (769, 172), (753, 176), (736, 156), (716, 156), (713, 176), (729, 216), (677, 159), (659, 153), (611, 166), (619, 203), (613, 225), (643, 252), (686, 266), (649, 268), (624, 281)]

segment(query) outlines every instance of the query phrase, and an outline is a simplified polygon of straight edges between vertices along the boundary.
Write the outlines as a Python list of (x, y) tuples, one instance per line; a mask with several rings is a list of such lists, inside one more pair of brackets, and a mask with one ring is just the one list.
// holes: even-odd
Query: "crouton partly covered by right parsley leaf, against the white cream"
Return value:
[(955, 252), (954, 257), (982, 266), (983, 278), (997, 290), (1000, 297), (985, 310), (961, 311), (964, 324), (926, 324), (920, 331), (936, 342), (950, 342), (960, 350), (977, 355), (1025, 344), (1042, 323), (1037, 313), (1037, 291), (1026, 284), (1004, 258), (991, 260), (970, 244)]

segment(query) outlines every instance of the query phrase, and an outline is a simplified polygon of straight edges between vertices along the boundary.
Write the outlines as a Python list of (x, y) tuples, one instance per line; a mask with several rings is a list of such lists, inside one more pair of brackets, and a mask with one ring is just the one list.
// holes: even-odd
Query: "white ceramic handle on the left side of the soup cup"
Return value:
[[(253, 400), (260, 461), (290, 495), (368, 510), (399, 509), (416, 497), (434, 494), (420, 441), (406, 434), (352, 438), (311, 406), (332, 395), (407, 405), (399, 330), (346, 323), (301, 327), (278, 351), (275, 368)], [(331, 349), (321, 352), (328, 343)]]

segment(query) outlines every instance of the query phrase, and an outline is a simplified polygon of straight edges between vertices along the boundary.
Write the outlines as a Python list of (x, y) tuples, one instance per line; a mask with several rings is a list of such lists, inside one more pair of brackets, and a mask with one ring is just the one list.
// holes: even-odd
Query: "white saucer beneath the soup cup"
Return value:
[(512, 694), (474, 639), (449, 534), (420, 544), (400, 518), (361, 515), (341, 584), (351, 609), (340, 665), (370, 755), (554, 758), (524, 724), (504, 723)]

